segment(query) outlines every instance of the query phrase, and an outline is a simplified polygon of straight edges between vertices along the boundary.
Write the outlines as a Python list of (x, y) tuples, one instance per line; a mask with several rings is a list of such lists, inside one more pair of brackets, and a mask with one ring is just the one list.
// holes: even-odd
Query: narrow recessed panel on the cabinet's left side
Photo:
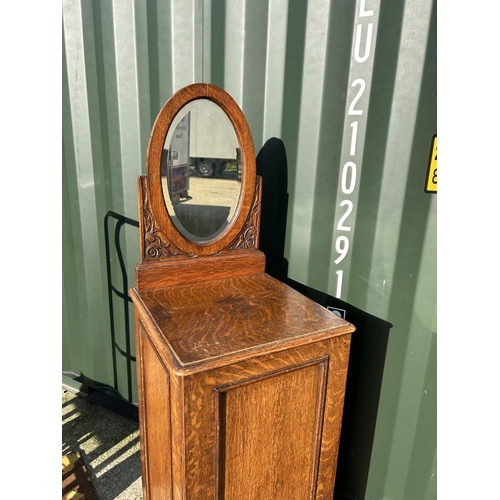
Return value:
[(144, 329), (139, 327), (142, 348), (142, 379), (145, 420), (141, 445), (147, 449), (148, 500), (172, 499), (172, 460), (170, 428), (170, 376), (161, 363)]

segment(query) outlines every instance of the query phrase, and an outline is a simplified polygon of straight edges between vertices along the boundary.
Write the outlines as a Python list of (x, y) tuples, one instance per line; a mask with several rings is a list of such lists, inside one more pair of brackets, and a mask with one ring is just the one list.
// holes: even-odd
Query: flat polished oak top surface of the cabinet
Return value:
[(166, 350), (184, 373), (354, 329), (265, 273), (132, 293), (156, 348)]

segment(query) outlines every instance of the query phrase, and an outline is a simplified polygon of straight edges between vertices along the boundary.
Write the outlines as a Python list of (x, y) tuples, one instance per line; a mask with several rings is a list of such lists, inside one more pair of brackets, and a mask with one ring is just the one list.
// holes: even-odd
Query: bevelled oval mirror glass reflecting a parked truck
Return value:
[(224, 110), (209, 99), (181, 108), (163, 145), (161, 184), (170, 218), (187, 239), (210, 241), (231, 223), (241, 169), (238, 138)]

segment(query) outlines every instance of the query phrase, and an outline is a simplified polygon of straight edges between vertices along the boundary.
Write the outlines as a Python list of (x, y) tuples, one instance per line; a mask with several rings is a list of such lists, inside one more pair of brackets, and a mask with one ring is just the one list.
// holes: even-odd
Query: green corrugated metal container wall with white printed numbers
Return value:
[(199, 81), (283, 141), (289, 277), (393, 325), (365, 498), (436, 498), (433, 0), (63, 1), (63, 371), (136, 401), (136, 181)]

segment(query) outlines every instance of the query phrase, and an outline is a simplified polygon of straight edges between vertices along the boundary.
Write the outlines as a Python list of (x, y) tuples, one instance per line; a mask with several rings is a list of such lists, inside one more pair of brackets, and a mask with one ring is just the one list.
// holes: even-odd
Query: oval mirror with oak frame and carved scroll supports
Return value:
[(256, 247), (260, 183), (252, 134), (225, 90), (193, 83), (170, 97), (151, 130), (146, 172), (144, 255)]

